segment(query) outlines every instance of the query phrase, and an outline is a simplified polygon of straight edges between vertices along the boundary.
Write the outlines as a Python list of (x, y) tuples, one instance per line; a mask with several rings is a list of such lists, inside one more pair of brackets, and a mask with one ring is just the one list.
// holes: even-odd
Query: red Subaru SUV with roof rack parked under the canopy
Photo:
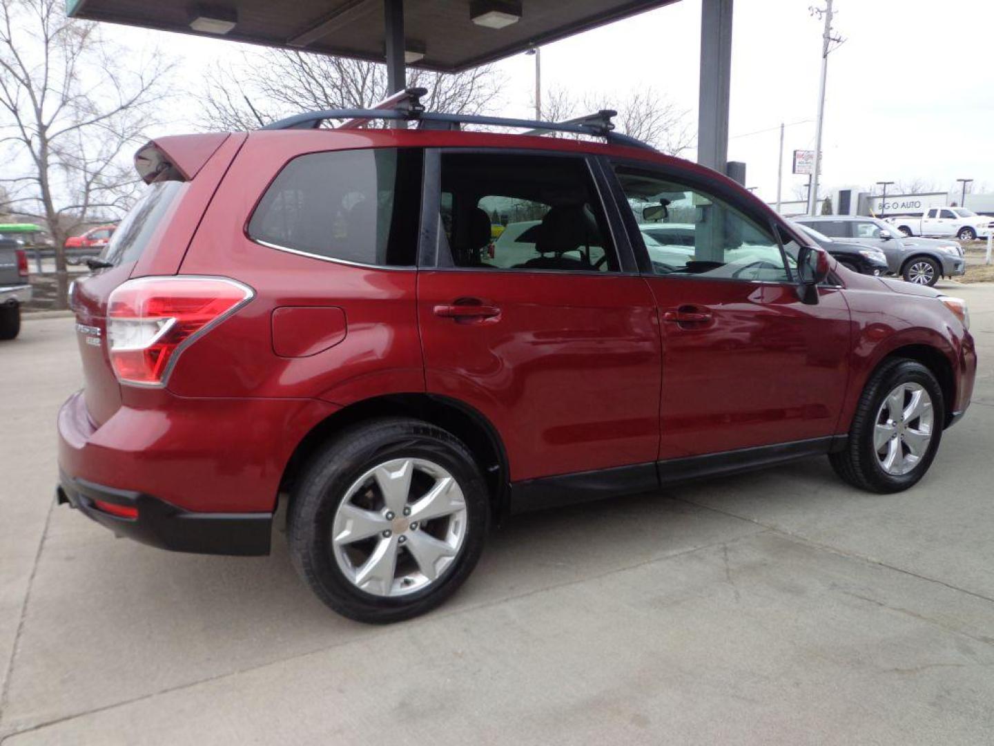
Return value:
[(285, 507), (317, 595), (390, 622), (517, 511), (819, 454), (906, 489), (970, 401), (962, 300), (840, 267), (714, 171), (605, 121), (316, 128), (362, 113), (137, 153), (146, 193), (72, 291), (60, 501), (242, 555)]

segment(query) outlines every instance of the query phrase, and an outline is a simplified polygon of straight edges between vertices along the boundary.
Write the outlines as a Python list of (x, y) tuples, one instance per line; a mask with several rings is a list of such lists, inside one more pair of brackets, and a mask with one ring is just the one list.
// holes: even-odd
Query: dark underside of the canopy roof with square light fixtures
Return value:
[[(677, 0), (409, 0), (404, 7), (407, 49), (423, 55), (412, 64), (458, 72), (533, 46)], [(212, 36), (267, 47), (301, 49), (383, 62), (384, 0), (67, 0), (75, 18), (109, 21), (184, 34)], [(472, 11), (470, 6), (472, 6)], [(473, 23), (488, 8), (519, 8), (520, 20), (504, 28)], [(223, 17), (235, 26), (223, 34), (190, 27), (200, 16)], [(609, 61), (609, 50), (591, 50)]]

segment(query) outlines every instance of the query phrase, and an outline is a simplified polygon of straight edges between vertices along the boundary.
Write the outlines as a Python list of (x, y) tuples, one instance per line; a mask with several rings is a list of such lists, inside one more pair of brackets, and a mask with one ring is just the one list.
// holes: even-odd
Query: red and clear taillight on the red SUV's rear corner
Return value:
[(162, 386), (180, 353), (254, 291), (227, 278), (138, 278), (107, 300), (110, 364), (121, 383)]

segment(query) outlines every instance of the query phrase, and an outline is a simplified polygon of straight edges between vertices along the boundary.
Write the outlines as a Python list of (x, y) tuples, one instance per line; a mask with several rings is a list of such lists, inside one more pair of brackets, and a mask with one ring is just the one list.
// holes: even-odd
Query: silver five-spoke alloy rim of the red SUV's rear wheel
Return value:
[(335, 561), (357, 588), (396, 597), (436, 582), (466, 537), (466, 502), (444, 467), (394, 459), (356, 479), (332, 524)]

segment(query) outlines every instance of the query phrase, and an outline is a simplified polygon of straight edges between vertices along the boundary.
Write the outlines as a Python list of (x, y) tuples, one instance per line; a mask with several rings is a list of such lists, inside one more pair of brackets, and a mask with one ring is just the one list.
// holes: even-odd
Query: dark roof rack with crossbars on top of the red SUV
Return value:
[(615, 116), (617, 112), (608, 108), (559, 122), (479, 114), (445, 114), (424, 110), (420, 97), (426, 93), (426, 89), (406, 89), (380, 101), (373, 108), (328, 108), (321, 111), (307, 111), (271, 122), (260, 129), (317, 129), (321, 126), (321, 122), (327, 119), (345, 119), (342, 124), (335, 127), (336, 129), (358, 129), (375, 119), (414, 120), (418, 122), (418, 127), (421, 129), (458, 129), (461, 124), (520, 127), (526, 129), (523, 134), (541, 135), (547, 132), (574, 132), (593, 137), (603, 137), (609, 144), (655, 150), (654, 147), (642, 142), (642, 140), (613, 131), (614, 124), (611, 122), (611, 117)]

